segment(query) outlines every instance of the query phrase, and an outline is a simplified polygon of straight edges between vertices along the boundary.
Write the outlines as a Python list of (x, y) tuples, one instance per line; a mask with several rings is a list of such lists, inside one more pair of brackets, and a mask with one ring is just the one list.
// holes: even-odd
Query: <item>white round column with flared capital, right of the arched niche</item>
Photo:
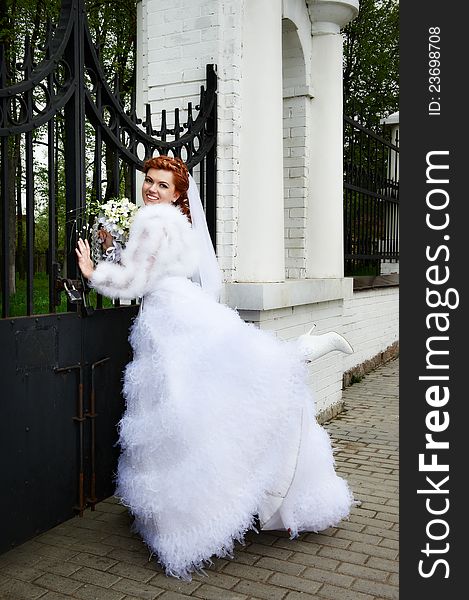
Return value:
[(312, 76), (310, 195), (306, 276), (343, 277), (343, 43), (341, 27), (358, 0), (311, 0)]

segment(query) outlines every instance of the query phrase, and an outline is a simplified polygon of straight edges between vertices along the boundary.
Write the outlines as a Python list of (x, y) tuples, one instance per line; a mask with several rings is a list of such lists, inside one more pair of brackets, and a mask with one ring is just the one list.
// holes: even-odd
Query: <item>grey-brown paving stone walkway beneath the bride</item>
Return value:
[[(296, 540), (247, 535), (233, 560), (185, 583), (148, 561), (113, 498), (0, 556), (2, 600), (382, 600), (398, 588), (398, 377), (394, 360), (344, 392), (325, 425), (337, 470), (361, 505), (350, 520)], [(8, 518), (8, 515), (3, 515)]]

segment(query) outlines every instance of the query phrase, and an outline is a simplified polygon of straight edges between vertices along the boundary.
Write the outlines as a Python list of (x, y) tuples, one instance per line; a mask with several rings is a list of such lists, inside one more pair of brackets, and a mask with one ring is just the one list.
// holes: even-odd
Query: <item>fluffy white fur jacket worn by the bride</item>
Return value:
[(110, 298), (139, 298), (162, 277), (190, 277), (197, 264), (195, 237), (185, 215), (171, 204), (152, 204), (138, 210), (121, 263), (99, 263), (90, 284)]

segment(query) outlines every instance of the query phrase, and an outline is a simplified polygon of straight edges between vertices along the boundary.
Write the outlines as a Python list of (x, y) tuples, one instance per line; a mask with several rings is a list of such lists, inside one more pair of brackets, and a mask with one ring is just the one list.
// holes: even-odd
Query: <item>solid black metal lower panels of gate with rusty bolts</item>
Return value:
[(0, 551), (113, 493), (135, 308), (0, 321)]

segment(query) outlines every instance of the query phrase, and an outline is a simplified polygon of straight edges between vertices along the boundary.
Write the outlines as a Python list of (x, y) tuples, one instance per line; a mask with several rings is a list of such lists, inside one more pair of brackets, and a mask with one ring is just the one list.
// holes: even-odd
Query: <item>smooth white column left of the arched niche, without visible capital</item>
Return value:
[(283, 281), (282, 0), (244, 11), (235, 279)]

